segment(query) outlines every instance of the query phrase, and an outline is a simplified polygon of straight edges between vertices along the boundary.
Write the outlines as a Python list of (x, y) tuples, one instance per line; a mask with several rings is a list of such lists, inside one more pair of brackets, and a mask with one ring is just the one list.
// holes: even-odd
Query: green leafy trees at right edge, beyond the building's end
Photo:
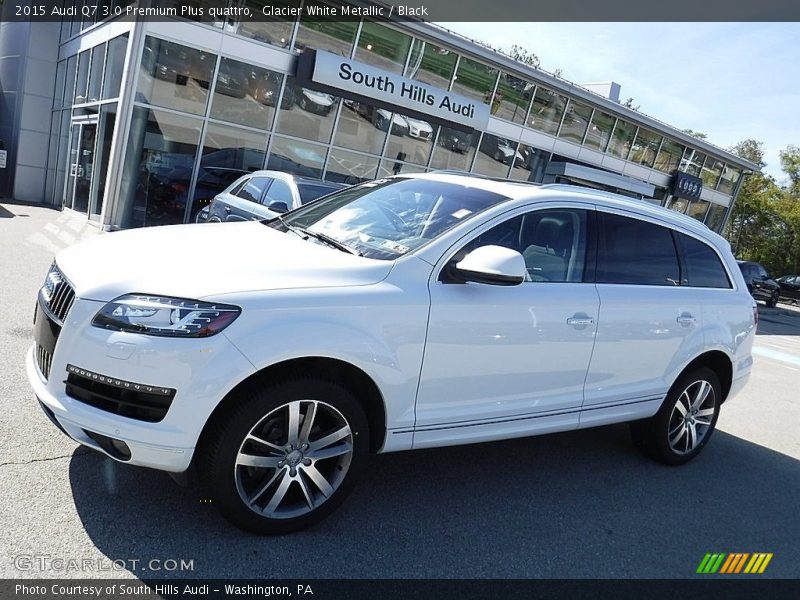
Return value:
[[(764, 148), (757, 140), (743, 140), (731, 152), (763, 167)], [(786, 157), (786, 159), (784, 159)], [(747, 177), (728, 219), (726, 236), (737, 258), (763, 264), (774, 277), (800, 273), (800, 150), (789, 146), (781, 152), (781, 166), (790, 186), (781, 187), (761, 172)]]

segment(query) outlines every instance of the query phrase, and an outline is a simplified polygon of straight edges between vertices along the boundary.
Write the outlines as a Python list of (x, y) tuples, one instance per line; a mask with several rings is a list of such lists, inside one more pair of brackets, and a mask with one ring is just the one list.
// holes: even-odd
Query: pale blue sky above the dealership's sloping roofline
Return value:
[(499, 48), (518, 44), (574, 83), (616, 81), (620, 99), (722, 148), (800, 145), (800, 23), (439, 23)]

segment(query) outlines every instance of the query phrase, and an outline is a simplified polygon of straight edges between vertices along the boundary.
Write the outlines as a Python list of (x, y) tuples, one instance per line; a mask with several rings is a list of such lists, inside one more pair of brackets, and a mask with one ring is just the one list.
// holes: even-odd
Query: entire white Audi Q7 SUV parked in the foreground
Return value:
[[(176, 248), (197, 261), (164, 261)], [(370, 452), (623, 421), (677, 465), (751, 370), (729, 246), (648, 203), (429, 173), (269, 221), (61, 252), (27, 373), (69, 437), (196, 469), (260, 533), (331, 513)]]

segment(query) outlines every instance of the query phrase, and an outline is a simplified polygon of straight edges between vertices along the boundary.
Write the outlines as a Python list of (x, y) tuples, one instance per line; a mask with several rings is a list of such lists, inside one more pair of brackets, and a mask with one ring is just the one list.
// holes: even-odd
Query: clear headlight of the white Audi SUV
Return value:
[(126, 294), (106, 304), (92, 325), (166, 337), (209, 337), (233, 323), (238, 306), (184, 298)]

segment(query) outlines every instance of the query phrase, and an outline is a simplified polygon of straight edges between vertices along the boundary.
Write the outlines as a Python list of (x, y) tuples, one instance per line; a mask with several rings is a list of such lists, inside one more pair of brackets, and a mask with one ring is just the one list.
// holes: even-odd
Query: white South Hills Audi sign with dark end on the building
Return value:
[(489, 122), (487, 104), (325, 50), (303, 52), (298, 61), (297, 79), (301, 85), (409, 116), (457, 125), (459, 129), (482, 130)]

